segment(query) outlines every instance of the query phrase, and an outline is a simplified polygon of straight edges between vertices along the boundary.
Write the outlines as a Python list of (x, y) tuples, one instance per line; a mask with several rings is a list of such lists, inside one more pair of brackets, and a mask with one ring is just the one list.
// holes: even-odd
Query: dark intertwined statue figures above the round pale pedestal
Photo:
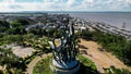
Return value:
[(60, 37), (60, 46), (57, 47), (55, 44), (55, 39), (52, 40), (53, 44), (53, 59), (58, 63), (70, 63), (71, 61), (75, 61), (75, 55), (78, 53), (78, 49), (75, 48), (75, 35), (72, 21), (69, 24), (64, 25), (62, 29), (62, 37)]

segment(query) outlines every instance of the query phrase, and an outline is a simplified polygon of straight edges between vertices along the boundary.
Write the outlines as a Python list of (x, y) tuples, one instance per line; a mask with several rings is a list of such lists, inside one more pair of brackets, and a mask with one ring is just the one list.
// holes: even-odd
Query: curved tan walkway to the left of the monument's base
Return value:
[(48, 57), (48, 55), (51, 55), (51, 53), (43, 54), (41, 57), (36, 57), (36, 58), (27, 65), (27, 69), (26, 69), (25, 74), (33, 74), (33, 67), (36, 65), (36, 63), (37, 63), (39, 60), (41, 60), (41, 59), (44, 59), (44, 58), (46, 58), (46, 57)]

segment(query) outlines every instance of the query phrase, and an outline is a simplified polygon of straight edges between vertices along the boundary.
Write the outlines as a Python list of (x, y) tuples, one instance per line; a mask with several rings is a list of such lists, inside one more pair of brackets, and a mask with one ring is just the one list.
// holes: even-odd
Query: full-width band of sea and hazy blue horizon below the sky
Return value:
[(49, 14), (70, 14), (72, 17), (79, 17), (85, 21), (93, 21), (93, 22), (104, 22), (106, 24), (117, 26), (122, 28), (122, 25), (126, 24), (126, 27), (122, 29), (131, 30), (131, 12), (70, 12), (70, 11), (46, 11), (46, 12), (38, 12), (38, 11), (25, 11), (25, 12), (2, 12), (0, 14), (17, 14), (17, 13), (49, 13)]

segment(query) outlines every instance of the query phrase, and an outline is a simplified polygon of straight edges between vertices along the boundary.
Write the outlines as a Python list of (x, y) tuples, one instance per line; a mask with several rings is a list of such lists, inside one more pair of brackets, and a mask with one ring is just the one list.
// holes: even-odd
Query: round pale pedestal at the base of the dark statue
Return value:
[(75, 74), (80, 69), (79, 61), (72, 61), (70, 63), (58, 63), (56, 60), (51, 60), (50, 69), (55, 74)]

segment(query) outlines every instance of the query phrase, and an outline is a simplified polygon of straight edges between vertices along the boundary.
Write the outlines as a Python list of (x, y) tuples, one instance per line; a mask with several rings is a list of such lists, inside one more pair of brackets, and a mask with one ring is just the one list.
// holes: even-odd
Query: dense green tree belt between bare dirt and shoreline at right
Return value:
[(131, 65), (131, 40), (109, 33), (86, 32), (82, 34), (86, 37), (91, 37), (92, 40), (96, 40), (104, 49), (112, 52), (123, 61), (123, 63)]

